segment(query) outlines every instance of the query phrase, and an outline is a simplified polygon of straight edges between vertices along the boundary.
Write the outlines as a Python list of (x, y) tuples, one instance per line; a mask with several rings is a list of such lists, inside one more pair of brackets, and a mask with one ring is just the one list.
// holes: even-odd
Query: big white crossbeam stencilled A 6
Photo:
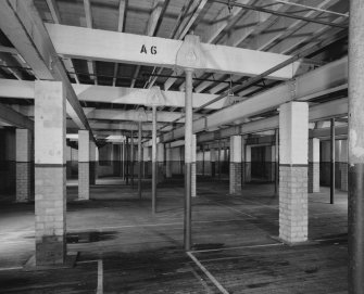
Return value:
[[(174, 68), (183, 43), (156, 37), (117, 31), (47, 24), (48, 33), (59, 54), (76, 59), (123, 62)], [(259, 75), (290, 56), (226, 46), (201, 43), (205, 63), (196, 68), (243, 76)], [(268, 78), (292, 78), (300, 63), (293, 63)]]

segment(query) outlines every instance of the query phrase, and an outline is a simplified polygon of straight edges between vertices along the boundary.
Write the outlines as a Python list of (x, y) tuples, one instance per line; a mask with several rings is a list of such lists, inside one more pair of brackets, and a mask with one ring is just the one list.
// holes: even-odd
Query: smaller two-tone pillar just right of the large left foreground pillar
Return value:
[(90, 132), (78, 131), (78, 200), (90, 199)]

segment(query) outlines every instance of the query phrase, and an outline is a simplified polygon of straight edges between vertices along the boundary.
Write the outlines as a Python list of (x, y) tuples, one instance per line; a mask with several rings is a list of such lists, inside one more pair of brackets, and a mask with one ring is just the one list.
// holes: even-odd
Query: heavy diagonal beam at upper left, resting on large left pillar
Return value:
[(0, 1), (0, 27), (37, 78), (63, 81), (67, 103), (73, 110), (70, 115), (79, 128), (90, 129), (33, 1)]

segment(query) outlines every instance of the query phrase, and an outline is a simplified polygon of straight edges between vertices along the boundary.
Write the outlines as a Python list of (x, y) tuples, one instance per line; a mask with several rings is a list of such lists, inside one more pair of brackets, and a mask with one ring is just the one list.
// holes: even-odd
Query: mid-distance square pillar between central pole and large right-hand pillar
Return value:
[(242, 145), (241, 136), (230, 137), (230, 168), (229, 168), (229, 182), (230, 194), (241, 193), (242, 180)]

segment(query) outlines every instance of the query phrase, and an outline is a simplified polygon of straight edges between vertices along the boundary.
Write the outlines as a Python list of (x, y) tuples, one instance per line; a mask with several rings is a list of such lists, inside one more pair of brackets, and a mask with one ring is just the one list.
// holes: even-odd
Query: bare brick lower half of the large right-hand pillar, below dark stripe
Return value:
[(279, 238), (287, 243), (307, 240), (307, 166), (279, 166)]

